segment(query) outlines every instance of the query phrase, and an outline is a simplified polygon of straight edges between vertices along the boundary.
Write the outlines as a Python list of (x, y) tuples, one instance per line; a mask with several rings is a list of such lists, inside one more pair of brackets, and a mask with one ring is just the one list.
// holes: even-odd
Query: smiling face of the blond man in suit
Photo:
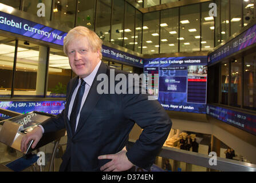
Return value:
[(69, 65), (80, 78), (92, 73), (100, 61), (99, 51), (93, 52), (85, 37), (76, 37), (67, 46)]

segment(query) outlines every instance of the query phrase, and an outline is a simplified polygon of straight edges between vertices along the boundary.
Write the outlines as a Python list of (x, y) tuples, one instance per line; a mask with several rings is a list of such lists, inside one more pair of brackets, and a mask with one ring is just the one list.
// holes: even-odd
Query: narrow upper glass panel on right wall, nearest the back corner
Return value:
[(222, 0), (221, 2), (221, 37), (223, 42), (229, 38), (229, 0)]

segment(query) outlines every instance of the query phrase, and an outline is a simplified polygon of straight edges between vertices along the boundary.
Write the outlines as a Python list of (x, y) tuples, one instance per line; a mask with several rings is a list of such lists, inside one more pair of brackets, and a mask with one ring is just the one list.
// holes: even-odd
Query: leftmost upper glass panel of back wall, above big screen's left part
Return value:
[[(166, 40), (163, 40), (163, 41), (166, 41)], [(153, 13), (144, 14), (142, 53), (143, 54), (159, 53), (158, 50), (159, 50), (159, 11), (156, 11)]]

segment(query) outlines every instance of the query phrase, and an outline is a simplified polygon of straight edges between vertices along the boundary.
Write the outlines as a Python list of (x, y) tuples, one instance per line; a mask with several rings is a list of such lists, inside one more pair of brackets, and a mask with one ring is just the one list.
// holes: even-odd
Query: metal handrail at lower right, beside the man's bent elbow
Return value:
[[(132, 146), (133, 144), (135, 144), (135, 140), (129, 139), (128, 145)], [(167, 146), (163, 146), (157, 156), (168, 158), (171, 160), (186, 162), (187, 164), (220, 170), (222, 172), (256, 172), (255, 164), (216, 157), (216, 165), (210, 165), (209, 160), (211, 157), (207, 156), (206, 154), (170, 148)]]

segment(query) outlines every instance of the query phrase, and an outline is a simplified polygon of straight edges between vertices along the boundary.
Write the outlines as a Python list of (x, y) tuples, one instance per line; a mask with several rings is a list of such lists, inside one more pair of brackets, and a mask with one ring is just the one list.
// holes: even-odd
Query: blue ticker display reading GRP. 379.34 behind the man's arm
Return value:
[[(65, 108), (65, 104), (66, 101), (4, 101), (0, 102), (0, 108), (22, 114), (38, 111), (57, 115)], [(0, 114), (0, 117), (9, 118), (4, 114)]]

